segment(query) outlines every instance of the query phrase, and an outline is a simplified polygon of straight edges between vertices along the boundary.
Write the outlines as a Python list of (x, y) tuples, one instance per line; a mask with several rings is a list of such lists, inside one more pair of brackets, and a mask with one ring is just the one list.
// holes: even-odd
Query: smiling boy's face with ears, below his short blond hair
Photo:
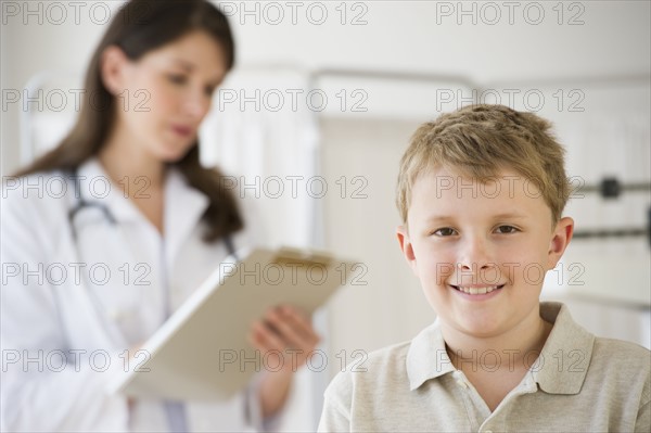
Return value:
[(446, 326), (480, 338), (538, 317), (545, 272), (573, 229), (571, 218), (552, 228), (535, 182), (516, 173), (482, 183), (444, 168), (417, 179), (407, 222), (398, 240), (427, 301)]

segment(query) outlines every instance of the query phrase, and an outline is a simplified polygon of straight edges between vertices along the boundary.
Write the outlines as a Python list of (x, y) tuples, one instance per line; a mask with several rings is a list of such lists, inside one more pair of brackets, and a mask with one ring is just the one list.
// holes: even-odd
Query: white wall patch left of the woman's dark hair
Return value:
[[(103, 2), (51, 2), (63, 8), (49, 7), (50, 2), (2, 1), (2, 174), (20, 164), (20, 113), (25, 100), (7, 101), (9, 92), (22, 93), (30, 77), (41, 71), (71, 72), (82, 75), (94, 46), (99, 42), (106, 20), (120, 4)], [(93, 3), (101, 3), (94, 5)], [(61, 14), (64, 11), (64, 14)], [(78, 20), (75, 11), (79, 11)], [(92, 14), (90, 11), (93, 11)], [(35, 12), (30, 15), (29, 12)], [(14, 15), (15, 13), (15, 15)], [(107, 14), (106, 14), (107, 13)], [(62, 20), (63, 17), (65, 20)], [(74, 102), (71, 95), (69, 104)], [(43, 105), (47, 105), (44, 103)], [(39, 110), (36, 104), (31, 110)], [(43, 107), (42, 110), (46, 110)]]

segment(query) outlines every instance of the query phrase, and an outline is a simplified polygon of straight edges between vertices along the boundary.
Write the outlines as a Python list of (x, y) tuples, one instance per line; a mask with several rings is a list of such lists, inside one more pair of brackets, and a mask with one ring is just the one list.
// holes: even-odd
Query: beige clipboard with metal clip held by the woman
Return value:
[[(230, 256), (141, 347), (146, 359), (111, 382), (130, 397), (224, 400), (254, 374), (291, 356), (267, 357), (246, 336), (279, 304), (311, 315), (346, 283), (353, 263), (328, 253), (282, 247)], [(270, 354), (269, 354), (270, 355)], [(141, 359), (141, 358), (138, 358)]]

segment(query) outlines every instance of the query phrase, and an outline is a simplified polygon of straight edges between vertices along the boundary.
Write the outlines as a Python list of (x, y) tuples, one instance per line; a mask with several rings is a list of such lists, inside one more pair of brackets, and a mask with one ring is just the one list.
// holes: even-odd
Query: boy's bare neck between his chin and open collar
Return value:
[(442, 323), (443, 338), (452, 365), (459, 369), (482, 367), (483, 371), (496, 369), (510, 371), (528, 369), (538, 358), (552, 323), (540, 317), (538, 309), (519, 326), (489, 338), (468, 334)]

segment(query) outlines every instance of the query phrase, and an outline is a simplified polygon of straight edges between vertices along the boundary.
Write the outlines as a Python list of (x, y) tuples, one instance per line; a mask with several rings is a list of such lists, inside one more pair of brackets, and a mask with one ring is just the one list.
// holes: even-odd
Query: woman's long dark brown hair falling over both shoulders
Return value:
[[(86, 73), (84, 102), (72, 131), (52, 151), (21, 169), (16, 176), (50, 170), (76, 170), (98, 154), (114, 126), (115, 98), (104, 87), (101, 59), (110, 46), (120, 48), (132, 61), (192, 30), (203, 30), (222, 48), (227, 69), (234, 64), (234, 42), (226, 16), (206, 0), (130, 0), (113, 18), (94, 51)], [(105, 103), (98, 104), (97, 101)], [(101, 105), (101, 109), (99, 107)], [(203, 215), (204, 240), (214, 242), (243, 228), (234, 196), (224, 189), (222, 175), (205, 168), (199, 158), (199, 141), (173, 163), (188, 183), (208, 196)]]

